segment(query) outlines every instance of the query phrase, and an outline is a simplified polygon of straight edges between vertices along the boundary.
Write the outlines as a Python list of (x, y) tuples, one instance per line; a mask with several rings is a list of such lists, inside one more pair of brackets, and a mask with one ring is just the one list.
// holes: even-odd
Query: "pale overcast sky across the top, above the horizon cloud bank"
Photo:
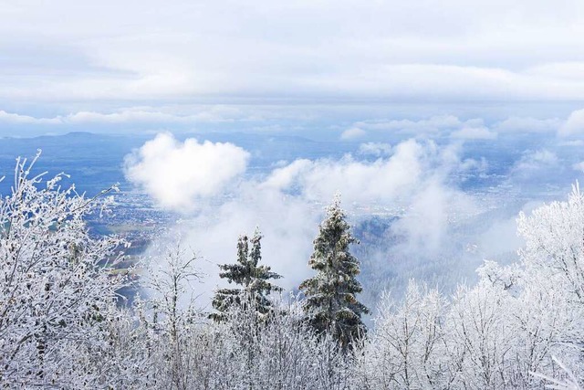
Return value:
[(547, 115), (565, 119), (582, 37), (581, 0), (0, 1), (0, 123), (357, 102), (568, 102)]

